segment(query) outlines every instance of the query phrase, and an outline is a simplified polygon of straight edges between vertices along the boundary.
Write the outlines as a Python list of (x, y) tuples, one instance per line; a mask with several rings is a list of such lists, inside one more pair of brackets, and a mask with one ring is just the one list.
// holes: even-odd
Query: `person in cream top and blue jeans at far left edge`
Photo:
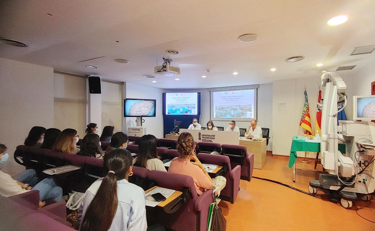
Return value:
[[(6, 153), (7, 147), (0, 144), (0, 169), (8, 160), (9, 155)], [(27, 169), (17, 174), (13, 178), (3, 171), (0, 171), (0, 195), (10, 197), (27, 192), (28, 190), (39, 191), (39, 207), (45, 205), (44, 200), (52, 199), (56, 202), (61, 201), (63, 196), (62, 188), (58, 187), (52, 179), (48, 177), (39, 182), (36, 172), (33, 169)], [(38, 183), (39, 182), (39, 183)]]

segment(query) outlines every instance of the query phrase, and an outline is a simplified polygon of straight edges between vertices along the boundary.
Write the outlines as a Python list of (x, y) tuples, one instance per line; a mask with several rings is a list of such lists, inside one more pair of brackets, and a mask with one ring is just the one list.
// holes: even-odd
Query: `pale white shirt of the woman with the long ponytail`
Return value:
[[(82, 213), (80, 230), (86, 210), (95, 197), (103, 178), (96, 180), (87, 189), (80, 212)], [(108, 231), (146, 231), (146, 207), (144, 191), (141, 187), (122, 179), (117, 181), (117, 211)], [(104, 206), (104, 204), (103, 204)], [(105, 218), (103, 218), (105, 219)]]

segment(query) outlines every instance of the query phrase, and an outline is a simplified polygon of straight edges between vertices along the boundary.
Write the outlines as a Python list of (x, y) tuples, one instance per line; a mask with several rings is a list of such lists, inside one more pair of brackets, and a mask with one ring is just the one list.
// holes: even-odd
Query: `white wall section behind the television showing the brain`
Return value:
[[(147, 134), (152, 134), (156, 138), (163, 138), (163, 89), (143, 86), (135, 83), (125, 83), (126, 88), (124, 98), (140, 98), (156, 100), (156, 117), (144, 117)], [(127, 133), (127, 128), (136, 126), (135, 117), (127, 117), (123, 119), (126, 122), (123, 132)]]

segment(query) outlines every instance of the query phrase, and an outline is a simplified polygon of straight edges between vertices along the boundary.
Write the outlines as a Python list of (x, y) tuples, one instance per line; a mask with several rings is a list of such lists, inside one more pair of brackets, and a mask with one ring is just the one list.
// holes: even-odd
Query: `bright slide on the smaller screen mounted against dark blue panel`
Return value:
[(166, 93), (165, 115), (196, 115), (198, 93)]

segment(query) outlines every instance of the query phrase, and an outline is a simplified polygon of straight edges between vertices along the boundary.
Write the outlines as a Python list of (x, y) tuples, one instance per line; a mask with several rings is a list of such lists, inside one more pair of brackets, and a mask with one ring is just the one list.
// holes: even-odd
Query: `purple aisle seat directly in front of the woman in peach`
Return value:
[(226, 185), (220, 192), (220, 198), (234, 204), (234, 202), (236, 202), (238, 188), (240, 187), (241, 166), (237, 165), (235, 168), (231, 169), (229, 157), (224, 155), (198, 153), (197, 157), (203, 164), (216, 164), (226, 168), (225, 174), (222, 175), (226, 179)]

